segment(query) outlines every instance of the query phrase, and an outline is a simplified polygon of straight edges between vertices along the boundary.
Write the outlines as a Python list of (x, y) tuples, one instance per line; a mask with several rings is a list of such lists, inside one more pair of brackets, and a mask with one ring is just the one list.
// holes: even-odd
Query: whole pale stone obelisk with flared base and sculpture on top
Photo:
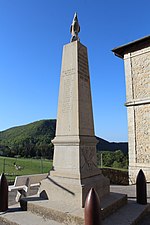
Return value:
[(71, 42), (63, 48), (53, 170), (41, 191), (51, 201), (84, 207), (90, 188), (102, 197), (109, 193), (109, 181), (97, 168), (87, 48), (79, 31), (75, 14)]

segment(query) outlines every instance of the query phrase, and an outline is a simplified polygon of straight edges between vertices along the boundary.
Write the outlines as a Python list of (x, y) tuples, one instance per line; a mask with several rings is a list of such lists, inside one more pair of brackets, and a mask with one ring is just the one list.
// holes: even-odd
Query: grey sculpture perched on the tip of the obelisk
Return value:
[(78, 22), (77, 13), (74, 14), (74, 18), (70, 27), (70, 33), (72, 34), (70, 42), (80, 41), (78, 33), (80, 32), (80, 25)]

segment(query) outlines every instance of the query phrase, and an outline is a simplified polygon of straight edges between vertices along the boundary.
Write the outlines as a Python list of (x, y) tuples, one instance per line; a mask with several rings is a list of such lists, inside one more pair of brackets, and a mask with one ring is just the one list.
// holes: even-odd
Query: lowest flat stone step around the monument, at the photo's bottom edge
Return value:
[[(122, 206), (115, 213), (105, 218), (102, 225), (135, 225), (146, 214), (150, 206), (139, 205), (135, 201), (128, 201), (128, 204)], [(67, 212), (66, 212), (67, 213)], [(68, 217), (65, 223), (48, 219), (45, 215), (37, 215), (30, 211), (22, 211), (19, 205), (13, 205), (5, 213), (0, 213), (0, 224), (5, 222), (7, 225), (66, 225), (73, 224), (72, 219)], [(4, 223), (4, 224), (5, 224)], [(76, 221), (81, 225), (82, 221)], [(142, 223), (140, 223), (142, 225)]]

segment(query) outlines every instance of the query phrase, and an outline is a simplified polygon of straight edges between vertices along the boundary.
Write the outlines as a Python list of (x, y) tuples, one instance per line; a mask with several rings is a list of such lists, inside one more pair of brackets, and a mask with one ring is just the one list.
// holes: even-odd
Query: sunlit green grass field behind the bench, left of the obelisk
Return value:
[(51, 168), (52, 160), (0, 157), (0, 173), (6, 174), (8, 182), (19, 175), (47, 173)]

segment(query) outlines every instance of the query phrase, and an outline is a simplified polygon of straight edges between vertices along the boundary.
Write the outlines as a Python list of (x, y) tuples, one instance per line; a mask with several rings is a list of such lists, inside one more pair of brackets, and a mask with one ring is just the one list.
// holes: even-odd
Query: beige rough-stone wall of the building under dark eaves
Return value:
[(124, 56), (128, 111), (129, 177), (143, 169), (150, 181), (150, 47)]

